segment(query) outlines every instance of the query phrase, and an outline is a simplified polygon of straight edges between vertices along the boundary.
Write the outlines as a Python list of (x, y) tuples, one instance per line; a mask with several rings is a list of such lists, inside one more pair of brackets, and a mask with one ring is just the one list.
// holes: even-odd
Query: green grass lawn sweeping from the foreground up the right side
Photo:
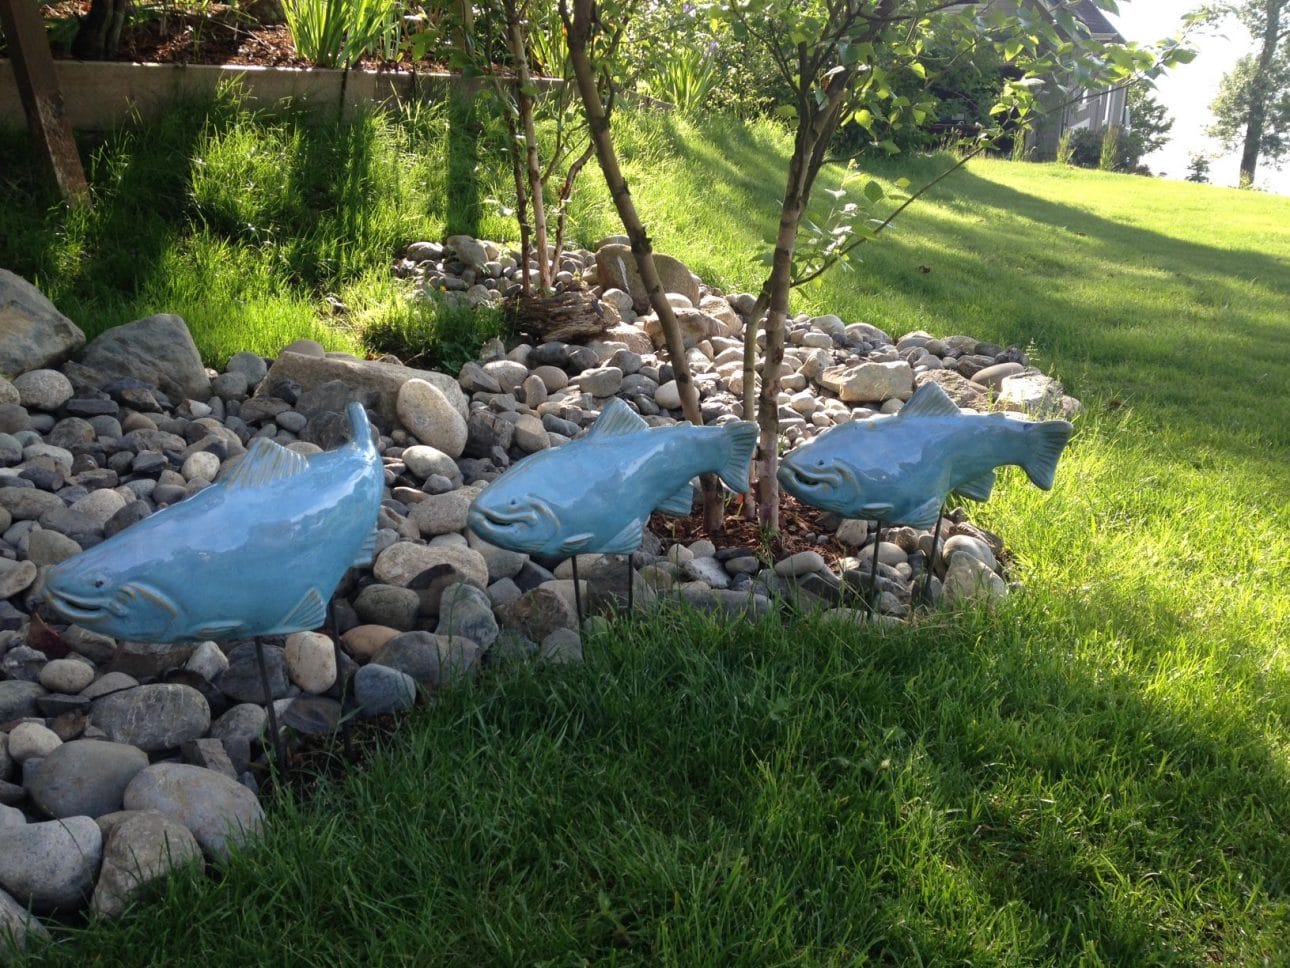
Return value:
[[(755, 288), (783, 134), (626, 120), (658, 248)], [(875, 170), (917, 185), (949, 163)], [(391, 249), (441, 231), (433, 185)], [(583, 241), (614, 230), (590, 178), (575, 217)], [(79, 231), (9, 218), (61, 232), (58, 258)], [(39, 960), (1286, 963), (1287, 226), (1284, 197), (970, 164), (797, 307), (1031, 345), (1085, 401), (1053, 492), (1010, 474), (971, 509), (1015, 555), (1005, 607), (912, 630), (619, 626), (584, 667), (418, 710), (362, 773), (281, 795), (213, 878)], [(377, 267), (316, 277), (360, 280), (379, 315)], [(272, 279), (302, 332), (325, 325)]]

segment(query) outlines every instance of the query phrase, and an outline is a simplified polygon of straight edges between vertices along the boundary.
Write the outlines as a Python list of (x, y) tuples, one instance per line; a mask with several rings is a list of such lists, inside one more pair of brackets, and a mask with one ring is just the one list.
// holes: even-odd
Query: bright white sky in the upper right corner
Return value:
[[(1182, 30), (1183, 14), (1200, 5), (1200, 0), (1120, 0), (1118, 15), (1107, 15), (1126, 40), (1152, 43)], [(1210, 181), (1214, 185), (1236, 185), (1240, 150), (1224, 151), (1216, 141), (1205, 136), (1205, 128), (1213, 121), (1209, 106), (1218, 93), (1219, 80), (1241, 54), (1254, 50), (1254, 40), (1233, 19), (1216, 34), (1193, 37), (1192, 45), (1200, 52), (1196, 59), (1156, 81), (1156, 97), (1169, 108), (1174, 128), (1169, 133), (1169, 145), (1147, 155), (1144, 163), (1156, 174), (1183, 178), (1191, 157), (1206, 154), (1211, 156)], [(1277, 170), (1260, 157), (1254, 182), (1267, 191), (1290, 195), (1290, 164)]]

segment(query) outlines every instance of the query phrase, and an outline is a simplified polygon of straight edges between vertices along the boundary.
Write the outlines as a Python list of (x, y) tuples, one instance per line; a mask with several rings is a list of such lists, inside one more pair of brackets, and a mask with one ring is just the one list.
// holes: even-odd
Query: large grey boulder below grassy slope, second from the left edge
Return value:
[(169, 312), (108, 329), (85, 347), (80, 361), (108, 383), (133, 377), (175, 400), (210, 396), (210, 379), (188, 325)]

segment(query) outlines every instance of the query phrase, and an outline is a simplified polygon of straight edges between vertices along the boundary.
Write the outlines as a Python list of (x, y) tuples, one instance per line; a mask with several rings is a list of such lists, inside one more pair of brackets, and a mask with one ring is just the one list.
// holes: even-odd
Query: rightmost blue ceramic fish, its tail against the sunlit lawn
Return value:
[(1051, 488), (1072, 431), (1066, 421), (964, 413), (924, 383), (899, 413), (841, 423), (799, 447), (778, 478), (814, 507), (928, 528), (949, 492), (986, 501), (1000, 465), (1020, 465), (1033, 484)]

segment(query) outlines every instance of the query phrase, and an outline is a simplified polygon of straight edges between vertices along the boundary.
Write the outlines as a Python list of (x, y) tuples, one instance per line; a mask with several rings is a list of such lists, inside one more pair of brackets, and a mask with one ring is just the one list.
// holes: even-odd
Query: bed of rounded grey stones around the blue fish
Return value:
[[(740, 312), (753, 299), (703, 285), (675, 259), (660, 263), (704, 421), (738, 419)], [(513, 252), (458, 236), (414, 244), (395, 271), (414, 298), (484, 303), (513, 289), (521, 270)], [(21, 942), (45, 932), (43, 915), (119, 914), (142, 883), (177, 863), (218, 861), (253, 835), (263, 822), (268, 701), (298, 741), (333, 731), (351, 709), (406, 710), (481, 665), (580, 661), (571, 563), (482, 542), (466, 527), (467, 507), (516, 461), (583, 432), (610, 398), (655, 426), (680, 418), (680, 399), (622, 241), (565, 253), (561, 272), (560, 287), (590, 288), (597, 332), (485, 347), (453, 376), (307, 341), (273, 360), (236, 354), (217, 373), (173, 315), (86, 345), (39, 290), (0, 270), (0, 933)], [(893, 413), (928, 381), (961, 407), (1078, 408), (1015, 347), (926, 333), (893, 341), (836, 316), (797, 318), (788, 336), (788, 445)], [(268, 639), (266, 697), (252, 641), (117, 641), (41, 616), (50, 565), (219, 480), (252, 438), (304, 454), (338, 447), (351, 400), (381, 434), (387, 490), (375, 560), (351, 570), (334, 600), (339, 669), (329, 635)], [(961, 512), (942, 534), (933, 600), (1007, 592), (996, 536)], [(868, 621), (858, 592), (873, 581), (871, 524), (828, 520), (813, 539), (835, 567), (814, 550), (762, 560), (755, 549), (668, 546), (646, 532), (632, 556), (636, 607), (680, 600), (731, 621), (815, 608)], [(930, 543), (928, 530), (884, 532), (880, 621), (911, 614)], [(622, 558), (578, 564), (588, 612), (626, 601)]]

